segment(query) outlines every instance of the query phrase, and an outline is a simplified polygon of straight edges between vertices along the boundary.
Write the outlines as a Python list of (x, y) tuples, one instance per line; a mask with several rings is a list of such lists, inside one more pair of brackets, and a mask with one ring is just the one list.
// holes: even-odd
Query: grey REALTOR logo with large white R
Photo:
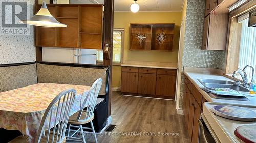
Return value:
[(0, 8), (1, 35), (29, 35), (29, 25), (19, 22), (29, 16), (26, 1), (1, 1)]

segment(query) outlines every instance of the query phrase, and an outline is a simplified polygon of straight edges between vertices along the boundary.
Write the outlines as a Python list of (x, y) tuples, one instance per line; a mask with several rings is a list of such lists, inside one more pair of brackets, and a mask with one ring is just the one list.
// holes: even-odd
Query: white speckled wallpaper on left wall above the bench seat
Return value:
[[(27, 0), (30, 16), (33, 15), (34, 0)], [(2, 15), (1, 19), (2, 19)], [(10, 18), (11, 16), (7, 16)], [(30, 35), (0, 35), (0, 64), (35, 61), (34, 30), (30, 26)]]

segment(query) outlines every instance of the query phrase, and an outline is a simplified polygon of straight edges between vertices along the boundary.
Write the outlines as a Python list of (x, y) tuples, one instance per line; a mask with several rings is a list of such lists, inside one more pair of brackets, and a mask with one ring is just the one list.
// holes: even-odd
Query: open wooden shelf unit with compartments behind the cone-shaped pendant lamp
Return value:
[[(102, 49), (103, 5), (48, 5), (65, 28), (36, 27), (36, 46)], [(38, 6), (37, 10), (40, 9)]]

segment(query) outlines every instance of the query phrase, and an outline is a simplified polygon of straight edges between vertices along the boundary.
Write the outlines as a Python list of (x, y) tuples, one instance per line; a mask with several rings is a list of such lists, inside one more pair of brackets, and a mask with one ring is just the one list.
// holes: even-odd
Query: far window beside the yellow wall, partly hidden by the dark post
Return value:
[[(123, 58), (124, 30), (115, 29), (113, 32), (113, 65), (120, 65)], [(103, 50), (97, 50), (97, 62), (103, 61)]]

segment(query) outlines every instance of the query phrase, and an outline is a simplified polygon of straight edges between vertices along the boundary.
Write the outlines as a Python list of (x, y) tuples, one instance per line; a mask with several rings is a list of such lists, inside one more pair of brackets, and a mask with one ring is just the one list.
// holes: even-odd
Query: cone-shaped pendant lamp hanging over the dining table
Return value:
[(41, 9), (29, 20), (19, 21), (23, 24), (41, 26), (41, 27), (67, 27), (67, 25), (60, 23), (57, 21), (49, 12), (46, 6), (45, 0), (42, 2)]

